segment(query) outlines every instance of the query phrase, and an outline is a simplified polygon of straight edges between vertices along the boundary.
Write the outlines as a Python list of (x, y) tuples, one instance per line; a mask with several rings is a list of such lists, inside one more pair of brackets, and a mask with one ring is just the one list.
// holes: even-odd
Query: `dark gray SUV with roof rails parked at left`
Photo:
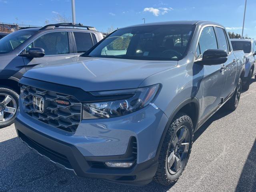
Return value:
[(103, 36), (81, 24), (23, 28), (0, 40), (0, 128), (12, 124), (18, 107), (18, 82), (32, 67), (80, 55)]

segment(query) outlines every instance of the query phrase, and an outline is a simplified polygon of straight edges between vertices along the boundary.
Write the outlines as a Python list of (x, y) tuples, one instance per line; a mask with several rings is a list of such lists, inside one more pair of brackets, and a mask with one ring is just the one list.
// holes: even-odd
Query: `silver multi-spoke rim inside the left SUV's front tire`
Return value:
[(10, 120), (16, 113), (16, 100), (6, 93), (0, 93), (0, 123)]

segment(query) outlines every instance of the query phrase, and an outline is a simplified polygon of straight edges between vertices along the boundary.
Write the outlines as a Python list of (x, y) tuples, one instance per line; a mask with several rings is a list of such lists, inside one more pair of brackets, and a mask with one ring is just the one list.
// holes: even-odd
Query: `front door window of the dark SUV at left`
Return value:
[(26, 52), (31, 47), (40, 47), (44, 49), (45, 55), (58, 55), (69, 53), (68, 33), (54, 32), (47, 33), (26, 48)]

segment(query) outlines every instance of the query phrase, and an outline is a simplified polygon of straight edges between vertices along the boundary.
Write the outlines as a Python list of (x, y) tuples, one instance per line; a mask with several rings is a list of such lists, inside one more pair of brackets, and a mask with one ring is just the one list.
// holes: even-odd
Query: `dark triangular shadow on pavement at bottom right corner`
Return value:
[(256, 191), (256, 140), (244, 164), (236, 192)]

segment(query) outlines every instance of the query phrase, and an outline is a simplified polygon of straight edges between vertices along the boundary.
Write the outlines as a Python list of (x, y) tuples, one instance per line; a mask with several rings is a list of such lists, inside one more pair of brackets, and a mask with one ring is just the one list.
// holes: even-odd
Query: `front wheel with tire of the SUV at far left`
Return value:
[(0, 88), (0, 128), (14, 122), (18, 108), (18, 94), (7, 87)]

